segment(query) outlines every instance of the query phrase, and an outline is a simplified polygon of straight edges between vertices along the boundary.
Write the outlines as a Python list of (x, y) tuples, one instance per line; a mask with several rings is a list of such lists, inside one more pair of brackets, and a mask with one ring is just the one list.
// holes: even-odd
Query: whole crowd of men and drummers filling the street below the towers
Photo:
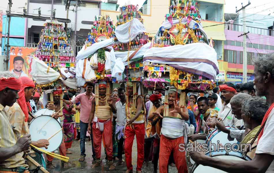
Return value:
[[(190, 157), (198, 164), (226, 172), (274, 172), (274, 55), (254, 59), (254, 81), (244, 84), (226, 82), (206, 93), (188, 93), (185, 103), (180, 103), (181, 90), (155, 90), (153, 94), (138, 95), (136, 83), (127, 82), (125, 87), (109, 90), (106, 82), (98, 85), (87, 83), (85, 92), (53, 92), (53, 103), (43, 105), (34, 82), (12, 72), (0, 73), (0, 171), (28, 172), (29, 166), (23, 155), (29, 153), (45, 168), (54, 168), (53, 157), (34, 151), (50, 144), (47, 139), (32, 141), (28, 123), (42, 108), (58, 110), (63, 107), (63, 142), (60, 155), (71, 154), (74, 140), (80, 140), (79, 161), (85, 161), (85, 140), (91, 140), (92, 168), (102, 162), (102, 141), (109, 169), (123, 165), (125, 154), (126, 173), (133, 172), (132, 146), (137, 142), (136, 172), (153, 162), (154, 172), (168, 172), (176, 166), (178, 172), (187, 173), (185, 151), (181, 144), (206, 140), (216, 127), (243, 144), (251, 144), (245, 152), (252, 160), (234, 161), (216, 159), (202, 151), (190, 151)], [(96, 92), (97, 91), (97, 92)], [(111, 93), (111, 94), (108, 94)], [(165, 102), (164, 97), (167, 102)], [(62, 100), (62, 102), (61, 102)], [(60, 105), (63, 103), (63, 105)], [(226, 126), (234, 126), (228, 129)], [(189, 132), (189, 127), (194, 132)], [(143, 166), (144, 164), (144, 166)], [(67, 163), (62, 161), (62, 166)]]

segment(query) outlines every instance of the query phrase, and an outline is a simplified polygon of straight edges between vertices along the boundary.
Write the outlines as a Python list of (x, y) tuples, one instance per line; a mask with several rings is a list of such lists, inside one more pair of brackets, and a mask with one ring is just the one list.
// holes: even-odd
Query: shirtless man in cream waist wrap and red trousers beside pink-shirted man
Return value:
[[(109, 90), (109, 87), (108, 87)], [(93, 134), (93, 146), (96, 154), (96, 163), (92, 166), (95, 168), (100, 165), (101, 160), (101, 143), (102, 136), (104, 136), (104, 143), (106, 146), (106, 153), (108, 156), (109, 169), (113, 170), (112, 158), (112, 112), (116, 113), (115, 101), (113, 97), (107, 93), (106, 82), (101, 82), (99, 85), (95, 85), (95, 99), (92, 100), (92, 107), (89, 117), (88, 132)], [(107, 98), (109, 97), (109, 98)], [(95, 106), (96, 105), (96, 106)], [(93, 119), (94, 118), (94, 119)]]

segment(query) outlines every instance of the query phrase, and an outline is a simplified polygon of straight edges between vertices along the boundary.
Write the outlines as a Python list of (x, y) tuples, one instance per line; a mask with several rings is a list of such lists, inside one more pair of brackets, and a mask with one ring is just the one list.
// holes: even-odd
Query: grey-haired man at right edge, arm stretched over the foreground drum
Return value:
[(273, 173), (274, 172), (274, 54), (258, 56), (254, 63), (254, 84), (256, 95), (265, 96), (271, 104), (262, 121), (262, 130), (258, 136), (256, 155), (251, 161), (214, 159), (202, 152), (190, 153), (191, 158), (204, 166), (211, 166), (230, 173)]

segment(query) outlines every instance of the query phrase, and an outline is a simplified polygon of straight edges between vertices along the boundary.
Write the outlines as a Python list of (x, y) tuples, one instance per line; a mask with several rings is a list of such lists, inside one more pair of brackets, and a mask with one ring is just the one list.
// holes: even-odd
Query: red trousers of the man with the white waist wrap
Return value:
[(168, 159), (170, 153), (173, 151), (173, 158), (175, 161), (178, 173), (187, 173), (187, 164), (185, 161), (185, 151), (179, 151), (179, 145), (184, 143), (184, 137), (181, 136), (175, 139), (168, 139), (161, 135), (160, 153), (159, 153), (159, 173), (166, 173), (168, 166)]

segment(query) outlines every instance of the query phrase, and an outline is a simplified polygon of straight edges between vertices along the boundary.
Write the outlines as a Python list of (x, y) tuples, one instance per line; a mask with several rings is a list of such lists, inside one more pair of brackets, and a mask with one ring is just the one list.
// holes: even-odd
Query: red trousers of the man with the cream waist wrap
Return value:
[(102, 144), (102, 135), (104, 136), (104, 142), (106, 147), (106, 154), (108, 160), (112, 160), (112, 123), (110, 120), (97, 120), (100, 123), (104, 123), (104, 130), (96, 129), (96, 122), (92, 125), (92, 135), (93, 135), (93, 146), (96, 154), (96, 159), (101, 157), (101, 144)]

